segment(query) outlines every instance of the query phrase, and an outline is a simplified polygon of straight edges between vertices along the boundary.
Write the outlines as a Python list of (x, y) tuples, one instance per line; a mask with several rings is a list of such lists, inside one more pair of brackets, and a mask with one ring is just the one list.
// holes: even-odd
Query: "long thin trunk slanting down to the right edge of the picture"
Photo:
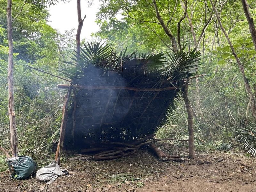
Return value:
[(236, 58), (236, 62), (238, 64), (238, 67), (242, 73), (242, 76), (243, 76), (243, 80), (244, 80), (244, 86), (245, 86), (245, 90), (247, 92), (247, 94), (249, 95), (249, 100), (251, 101), (251, 112), (252, 112), (252, 116), (254, 117), (254, 119), (256, 119), (256, 106), (255, 106), (255, 100), (254, 100), (254, 96), (252, 94), (252, 90), (251, 90), (251, 87), (250, 87), (250, 84), (248, 82), (248, 79), (245, 75), (245, 72), (244, 72), (244, 66), (242, 65), (242, 63), (240, 62), (239, 58), (237, 57), (236, 55), (236, 52), (235, 52), (235, 49), (233, 47), (233, 44), (231, 43), (229, 37), (228, 37), (228, 34), (226, 33), (226, 30), (224, 29), (221, 21), (220, 21), (220, 17), (219, 17), (219, 14), (218, 14), (218, 11), (216, 10), (214, 4), (212, 3), (212, 0), (210, 0), (211, 4), (212, 4), (212, 9), (214, 9), (215, 13), (216, 13), (216, 17), (217, 17), (217, 20), (220, 24), (220, 28), (222, 30), (222, 32), (224, 33), (224, 35), (226, 36), (226, 39), (228, 41), (228, 44), (232, 50), (232, 54), (234, 55), (234, 57)]

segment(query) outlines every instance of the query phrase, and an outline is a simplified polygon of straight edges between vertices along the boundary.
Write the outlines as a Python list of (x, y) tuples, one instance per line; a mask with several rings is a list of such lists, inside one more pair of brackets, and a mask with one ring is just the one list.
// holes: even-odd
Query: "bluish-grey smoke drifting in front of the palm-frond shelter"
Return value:
[[(84, 74), (83, 78), (76, 81), (77, 84), (101, 87), (126, 86), (122, 76), (115, 71), (105, 72), (94, 65), (89, 65)], [(113, 129), (120, 126), (127, 115), (130, 97), (130, 92), (125, 89), (78, 90), (75, 112), (76, 135), (81, 136), (82, 133), (83, 136), (89, 135), (94, 139), (99, 138), (101, 133), (111, 135)]]

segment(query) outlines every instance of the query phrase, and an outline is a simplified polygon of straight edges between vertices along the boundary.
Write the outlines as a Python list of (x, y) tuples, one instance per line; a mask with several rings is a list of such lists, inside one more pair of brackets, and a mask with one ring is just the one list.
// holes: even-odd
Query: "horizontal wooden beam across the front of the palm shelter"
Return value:
[(136, 88), (136, 87), (121, 87), (121, 86), (84, 86), (84, 85), (65, 85), (65, 84), (58, 84), (59, 89), (68, 89), (69, 87), (75, 88), (75, 89), (87, 89), (87, 90), (93, 90), (93, 89), (104, 89), (104, 90), (114, 90), (114, 89), (127, 89), (127, 90), (133, 90), (133, 91), (166, 91), (166, 90), (175, 90), (179, 87), (164, 87), (164, 88)]

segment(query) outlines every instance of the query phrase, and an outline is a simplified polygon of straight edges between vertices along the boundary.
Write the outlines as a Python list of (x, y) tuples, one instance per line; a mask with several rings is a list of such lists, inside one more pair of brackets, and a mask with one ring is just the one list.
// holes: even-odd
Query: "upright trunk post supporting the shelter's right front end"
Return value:
[(195, 148), (194, 148), (194, 128), (193, 128), (193, 111), (191, 108), (190, 101), (188, 100), (188, 81), (187, 78), (185, 85), (182, 87), (182, 96), (187, 108), (188, 113), (188, 150), (189, 150), (189, 158), (195, 158)]

